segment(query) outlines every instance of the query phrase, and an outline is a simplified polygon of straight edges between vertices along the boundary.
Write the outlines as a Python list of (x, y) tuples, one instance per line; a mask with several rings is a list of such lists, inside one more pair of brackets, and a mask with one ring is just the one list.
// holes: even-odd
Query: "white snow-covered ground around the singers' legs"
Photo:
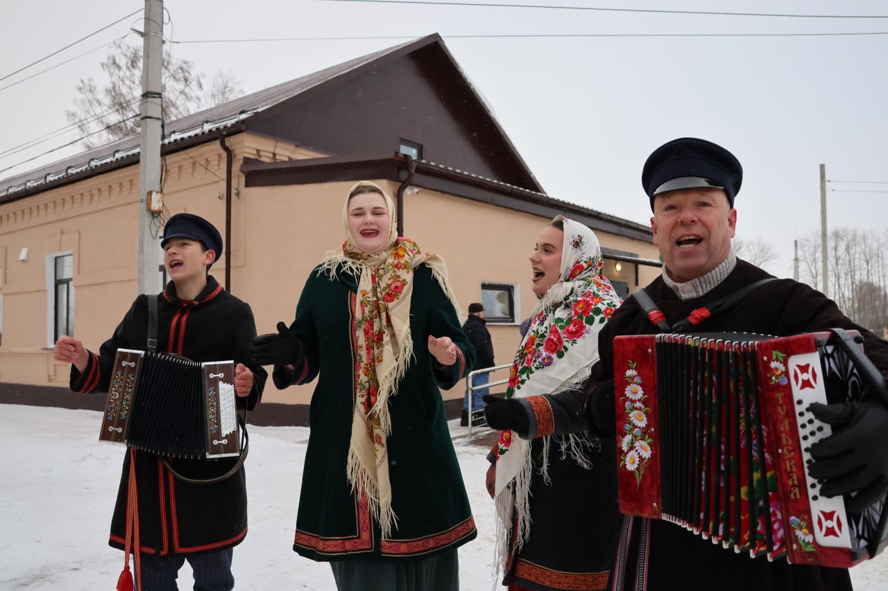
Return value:
[[(99, 422), (93, 411), (0, 405), (0, 589), (114, 588), (123, 553), (107, 546), (107, 528), (123, 448), (99, 444)], [(455, 422), (451, 429), (479, 531), (460, 548), (460, 587), (488, 591), (494, 519), (485, 451)], [(234, 549), (239, 589), (335, 589), (326, 563), (291, 549), (307, 437), (305, 428), (250, 427), (250, 533)], [(191, 587), (187, 564), (179, 579)], [(888, 558), (854, 567), (852, 579), (858, 591), (888, 589)]]

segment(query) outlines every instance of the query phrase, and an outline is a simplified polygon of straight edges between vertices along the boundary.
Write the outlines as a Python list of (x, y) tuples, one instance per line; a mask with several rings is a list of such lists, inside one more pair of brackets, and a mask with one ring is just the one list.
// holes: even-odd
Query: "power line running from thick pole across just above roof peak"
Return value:
[[(332, 0), (328, 0), (332, 1)], [(342, 0), (345, 1), (345, 0)], [(546, 39), (546, 38), (607, 38), (607, 37), (829, 37), (888, 35), (888, 31), (865, 33), (585, 33), (585, 34), (540, 34), (540, 35), (441, 35), (446, 39)], [(278, 43), (289, 41), (362, 41), (420, 39), (416, 35), (379, 35), (359, 37), (274, 37), (268, 39), (194, 39), (172, 43)]]

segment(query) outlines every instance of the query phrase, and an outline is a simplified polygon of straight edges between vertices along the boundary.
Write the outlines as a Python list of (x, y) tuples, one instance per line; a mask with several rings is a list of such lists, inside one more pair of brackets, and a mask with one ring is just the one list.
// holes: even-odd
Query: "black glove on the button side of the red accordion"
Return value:
[(888, 493), (888, 408), (877, 401), (813, 403), (811, 413), (834, 426), (829, 437), (811, 446), (811, 477), (825, 480), (827, 497), (857, 493), (845, 507), (860, 513)]

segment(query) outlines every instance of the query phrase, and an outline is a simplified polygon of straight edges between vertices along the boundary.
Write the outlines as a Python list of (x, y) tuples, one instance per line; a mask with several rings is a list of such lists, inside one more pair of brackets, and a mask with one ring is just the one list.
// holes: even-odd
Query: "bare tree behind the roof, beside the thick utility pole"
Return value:
[[(140, 47), (116, 41), (101, 64), (107, 76), (104, 86), (92, 78), (76, 86), (75, 108), (66, 111), (67, 121), (87, 147), (107, 144), (139, 132), (139, 100), (142, 94), (142, 51)], [(210, 106), (220, 105), (241, 95), (240, 83), (231, 72), (218, 72), (204, 92), (203, 74), (194, 62), (163, 56), (163, 121), (175, 121)]]

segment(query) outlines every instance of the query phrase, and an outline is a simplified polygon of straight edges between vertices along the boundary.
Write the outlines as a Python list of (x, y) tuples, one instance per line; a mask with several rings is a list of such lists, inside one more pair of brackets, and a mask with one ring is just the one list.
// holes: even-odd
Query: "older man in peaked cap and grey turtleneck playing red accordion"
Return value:
[[(788, 336), (833, 327), (858, 330), (868, 358), (882, 372), (888, 370), (888, 343), (853, 323), (821, 292), (794, 280), (772, 280), (733, 307), (706, 314), (716, 309), (713, 303), (760, 280), (773, 279), (737, 258), (731, 245), (738, 217), (734, 199), (742, 172), (733, 154), (700, 138), (667, 142), (645, 162), (641, 182), (654, 214), (651, 230), (663, 269), (644, 291), (659, 314), (646, 310), (633, 294), (599, 335), (601, 359), (593, 368), (595, 387), (589, 410), (592, 429), (600, 436), (615, 437), (616, 431), (614, 337), (661, 332), (665, 327), (660, 323), (672, 327), (692, 319), (692, 312), (693, 322), (682, 332)], [(625, 377), (621, 374), (619, 379)], [(859, 512), (888, 490), (888, 409), (877, 400), (868, 400), (814, 404), (811, 412), (836, 430), (812, 445), (814, 462), (809, 472), (824, 481), (824, 496), (854, 494), (846, 497), (846, 507)], [(604, 473), (598, 477), (600, 482), (615, 481), (617, 471), (612, 466), (607, 478)], [(797, 533), (786, 528), (783, 535)], [(638, 591), (852, 588), (846, 569), (790, 564), (785, 558), (753, 559), (749, 553), (714, 545), (678, 524), (629, 516), (624, 517), (617, 563), (624, 568), (614, 588)]]

